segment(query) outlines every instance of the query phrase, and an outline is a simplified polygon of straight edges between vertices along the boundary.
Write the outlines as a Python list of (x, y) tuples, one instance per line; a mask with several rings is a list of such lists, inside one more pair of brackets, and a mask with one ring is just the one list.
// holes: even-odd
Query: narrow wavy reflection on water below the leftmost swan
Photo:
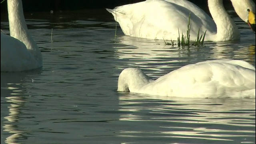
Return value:
[[(31, 75), (40, 74), (40, 69), (32, 72), (1, 72), (1, 104), (7, 105), (8, 116), (1, 114), (1, 126), (4, 131), (9, 132), (11, 135), (5, 140), (7, 144), (21, 144), (17, 142), (18, 139), (23, 139), (25, 130), (21, 130), (17, 123), (19, 123), (20, 115), (22, 114), (21, 108), (28, 101), (27, 99), (27, 86), (22, 81), (28, 79), (34, 82)], [(5, 102), (2, 102), (3, 99)], [(1, 108), (2, 113), (2, 108)], [(2, 120), (4, 116), (4, 120)], [(2, 132), (1, 132), (2, 134)]]

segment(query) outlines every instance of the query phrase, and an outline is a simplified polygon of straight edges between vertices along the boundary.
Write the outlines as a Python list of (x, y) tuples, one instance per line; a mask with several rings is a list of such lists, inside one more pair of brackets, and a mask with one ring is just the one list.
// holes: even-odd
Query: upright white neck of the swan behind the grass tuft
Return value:
[(208, 0), (208, 7), (217, 26), (216, 38), (220, 41), (240, 38), (240, 32), (235, 22), (226, 12), (222, 0)]

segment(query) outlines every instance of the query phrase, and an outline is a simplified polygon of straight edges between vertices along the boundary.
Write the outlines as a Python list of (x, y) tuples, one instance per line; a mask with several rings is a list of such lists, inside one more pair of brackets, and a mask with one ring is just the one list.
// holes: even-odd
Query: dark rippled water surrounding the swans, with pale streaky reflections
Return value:
[[(229, 11), (233, 16), (234, 12)], [(7, 15), (1, 29), (8, 34)], [(42, 69), (1, 73), (1, 143), (240, 144), (255, 142), (255, 99), (198, 99), (116, 92), (118, 75), (155, 78), (187, 64), (232, 58), (255, 66), (255, 35), (233, 16), (241, 40), (166, 46), (124, 36), (105, 10), (25, 14)], [(52, 42), (51, 42), (52, 40)]]

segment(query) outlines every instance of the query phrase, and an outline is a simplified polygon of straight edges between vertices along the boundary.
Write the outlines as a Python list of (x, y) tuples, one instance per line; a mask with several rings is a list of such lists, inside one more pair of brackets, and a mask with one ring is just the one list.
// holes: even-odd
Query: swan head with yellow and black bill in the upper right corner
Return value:
[(246, 22), (255, 33), (255, 3), (252, 0), (231, 0), (238, 16)]

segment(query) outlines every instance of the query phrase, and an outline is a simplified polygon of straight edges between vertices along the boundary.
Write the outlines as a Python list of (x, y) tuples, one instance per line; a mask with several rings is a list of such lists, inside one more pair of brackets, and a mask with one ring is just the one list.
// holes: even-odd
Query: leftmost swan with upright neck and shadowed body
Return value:
[(28, 32), (21, 0), (7, 0), (10, 36), (1, 32), (1, 72), (42, 67), (42, 54)]

